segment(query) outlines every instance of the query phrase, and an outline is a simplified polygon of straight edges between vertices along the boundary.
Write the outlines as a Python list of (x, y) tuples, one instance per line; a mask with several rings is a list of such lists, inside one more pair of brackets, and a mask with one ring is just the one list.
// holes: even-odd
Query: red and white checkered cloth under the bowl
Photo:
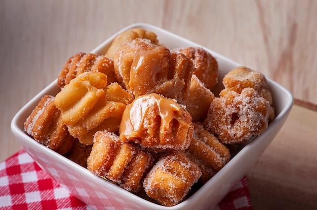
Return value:
[[(94, 208), (51, 179), (26, 151), (21, 149), (0, 163), (0, 209)], [(245, 177), (236, 183), (216, 209), (252, 209)]]

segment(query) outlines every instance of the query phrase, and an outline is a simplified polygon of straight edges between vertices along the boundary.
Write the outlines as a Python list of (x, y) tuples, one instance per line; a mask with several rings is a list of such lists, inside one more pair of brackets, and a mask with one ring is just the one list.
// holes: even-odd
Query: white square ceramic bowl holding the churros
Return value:
[[(130, 25), (117, 33), (134, 27), (140, 27), (156, 33), (160, 42), (170, 49), (189, 46), (203, 47), (166, 30), (143, 23)], [(116, 34), (104, 41), (92, 50), (91, 53), (99, 55), (105, 54), (115, 35)], [(214, 93), (217, 94), (217, 92), (223, 88), (221, 81), (224, 75), (230, 70), (241, 66), (241, 64), (233, 62), (212, 50), (209, 51), (217, 59), (219, 64), (219, 82), (214, 91)], [(24, 132), (23, 123), (42, 96), (45, 94), (56, 95), (60, 91), (57, 85), (57, 79), (39, 92), (16, 114), (12, 120), (11, 129), (24, 149), (44, 171), (67, 188), (77, 198), (91, 206), (95, 206), (96, 208), (111, 206), (121, 209), (210, 209), (217, 205), (234, 186), (235, 182), (240, 180), (246, 174), (247, 170), (255, 164), (264, 149), (279, 132), (291, 111), (293, 106), (292, 94), (280, 84), (270, 79), (267, 80), (268, 88), (273, 96), (275, 119), (270, 122), (268, 128), (260, 136), (257, 136), (253, 141), (247, 144), (241, 145), (235, 154), (232, 154), (232, 158), (228, 164), (204, 186), (183, 202), (171, 207), (147, 201), (93, 175), (89, 170), (73, 163), (42, 144), (37, 143)]]

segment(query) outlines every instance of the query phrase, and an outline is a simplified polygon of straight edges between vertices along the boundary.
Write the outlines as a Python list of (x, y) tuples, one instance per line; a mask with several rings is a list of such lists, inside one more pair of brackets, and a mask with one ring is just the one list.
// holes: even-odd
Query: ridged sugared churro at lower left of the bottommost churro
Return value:
[(129, 142), (120, 141), (114, 133), (98, 131), (88, 158), (88, 169), (128, 191), (137, 192), (153, 164), (152, 156)]

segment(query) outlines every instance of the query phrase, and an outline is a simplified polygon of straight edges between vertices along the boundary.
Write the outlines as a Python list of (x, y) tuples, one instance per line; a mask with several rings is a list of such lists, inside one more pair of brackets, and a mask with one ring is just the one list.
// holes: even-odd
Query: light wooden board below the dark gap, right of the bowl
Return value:
[(254, 209), (315, 209), (316, 125), (316, 111), (293, 107), (279, 134), (247, 174)]

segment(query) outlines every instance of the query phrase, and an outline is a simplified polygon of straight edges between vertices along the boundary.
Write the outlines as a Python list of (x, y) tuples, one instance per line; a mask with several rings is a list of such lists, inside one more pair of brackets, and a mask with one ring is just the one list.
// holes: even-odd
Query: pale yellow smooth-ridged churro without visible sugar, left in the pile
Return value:
[[(126, 104), (108, 101), (103, 89), (106, 84), (105, 74), (85, 72), (72, 79), (55, 97), (69, 133), (84, 144), (92, 144), (98, 130), (115, 132), (119, 128)], [(111, 87), (106, 88), (109, 93)], [(129, 99), (125, 96), (126, 100)]]

